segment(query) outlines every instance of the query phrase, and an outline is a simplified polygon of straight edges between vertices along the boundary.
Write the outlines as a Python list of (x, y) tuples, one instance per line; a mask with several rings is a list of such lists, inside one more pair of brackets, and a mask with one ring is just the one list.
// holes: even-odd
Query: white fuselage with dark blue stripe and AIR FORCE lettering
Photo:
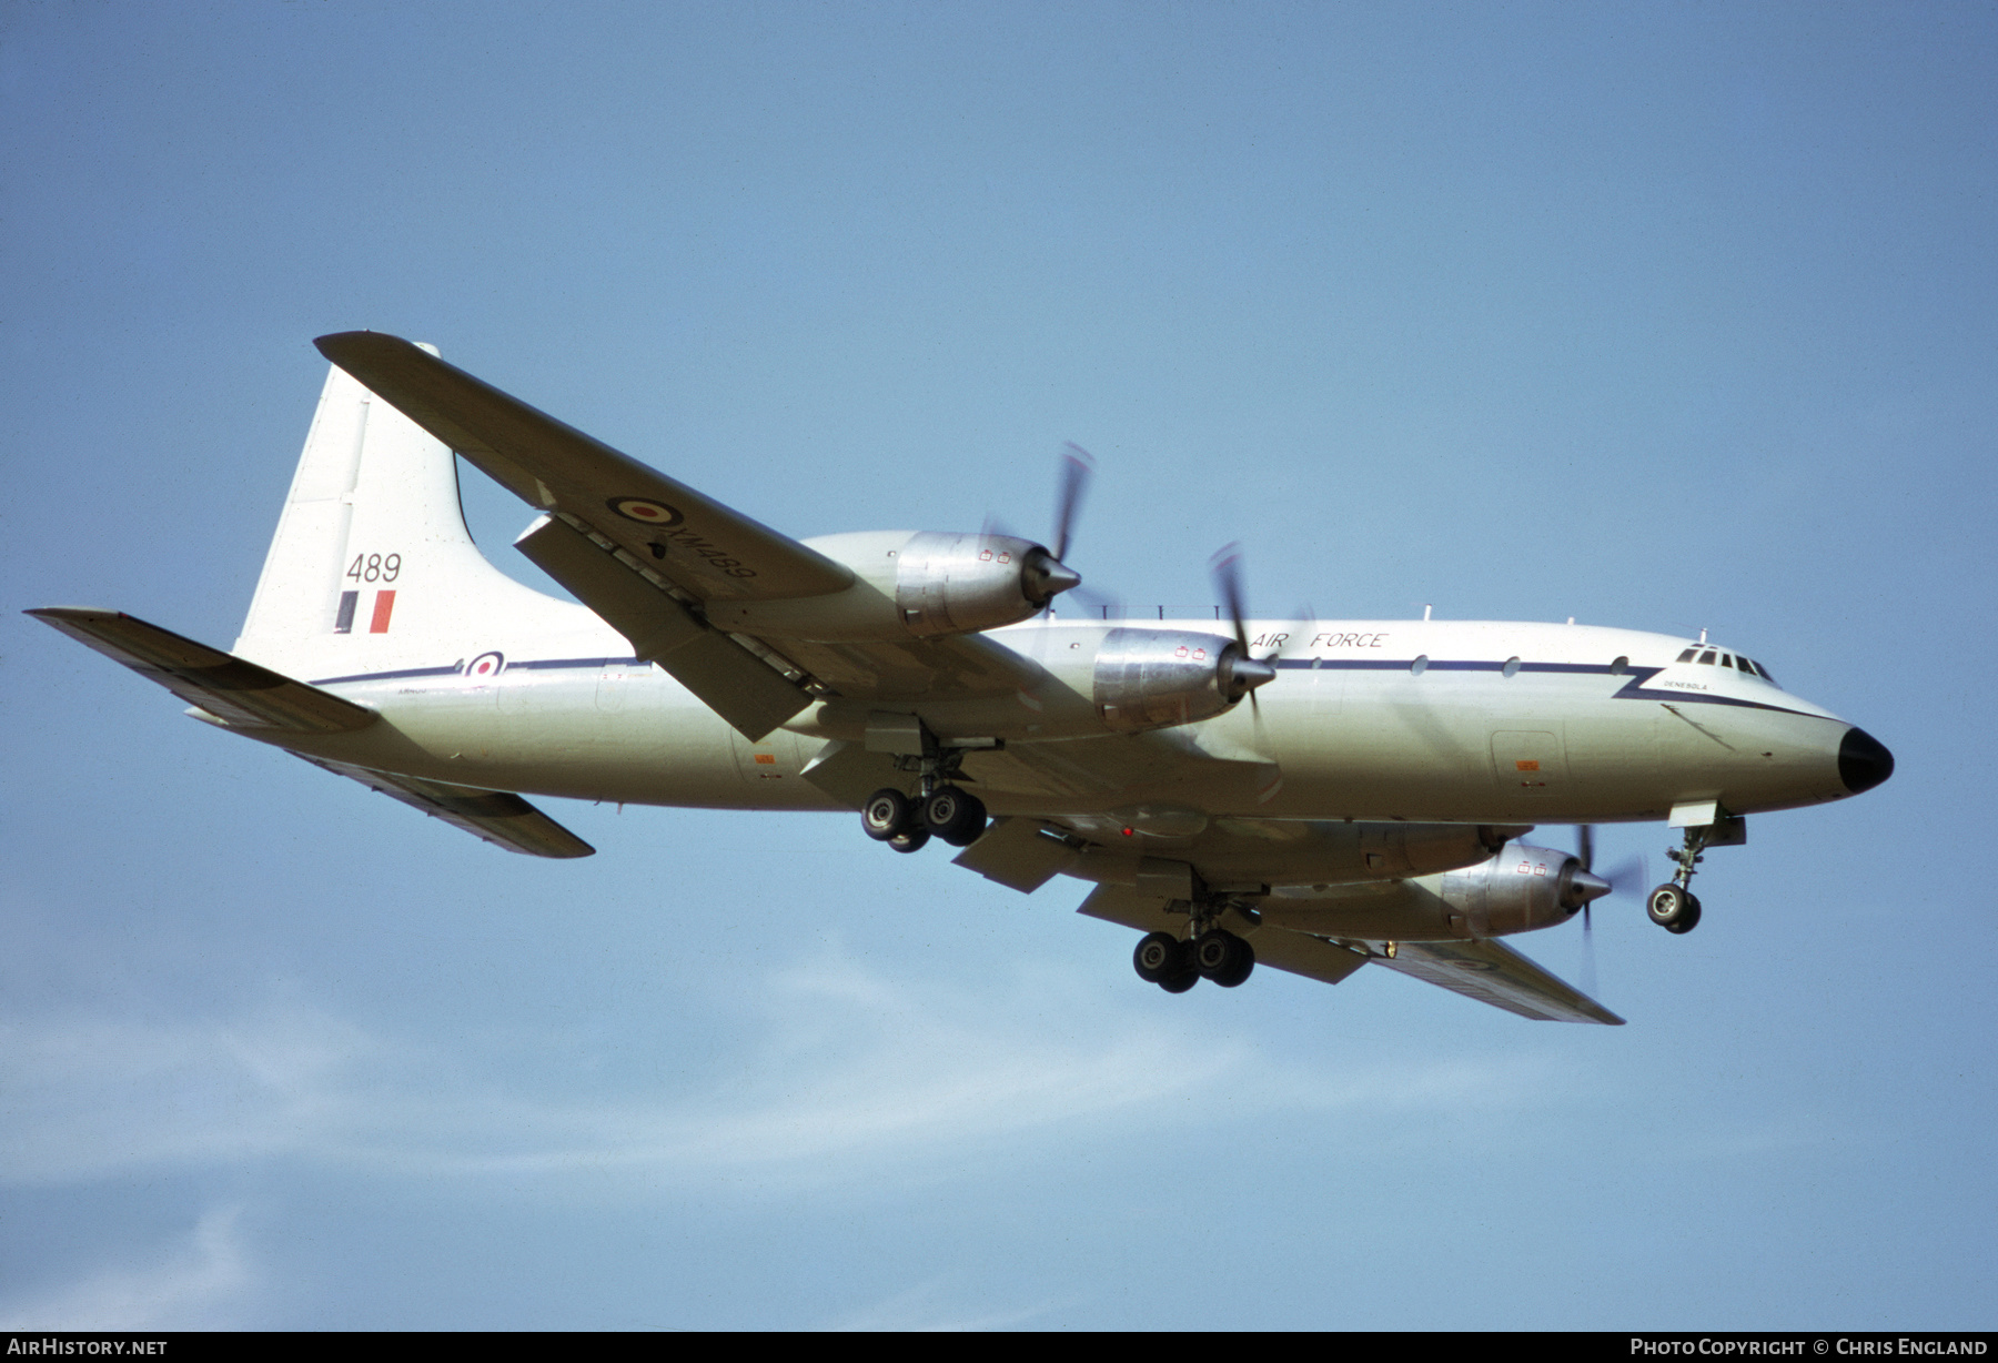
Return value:
[[(589, 612), (539, 598), (525, 616), (517, 630), (488, 622), (480, 638), (422, 658), (382, 640), (374, 660), (366, 648), (344, 654), (340, 674), (302, 672), (384, 721), (286, 745), (523, 793), (843, 807), (801, 779), (827, 741), (815, 709), (751, 743), (667, 674), (633, 662)], [(1219, 634), (1199, 620), (1157, 628)], [(1251, 626), (1251, 640), (1277, 646), (1293, 630)], [(1085, 656), (1101, 634), (1095, 622), (1053, 620), (987, 636), (1043, 668), (1041, 685), (1009, 701), (1019, 709), (1007, 751), (967, 761), (993, 813), (1165, 801), (1265, 819), (1558, 823), (1662, 819), (1688, 801), (1756, 813), (1850, 793), (1838, 769), (1846, 721), (1760, 676), (1676, 662), (1690, 640), (1592, 626), (1315, 622), (1281, 642), (1279, 676), (1255, 707), (1147, 735), (1039, 739), (1033, 719), (1057, 699), (1051, 691), (1079, 699), (1063, 656)], [(484, 672), (476, 660), (488, 660)], [(1035, 747), (1059, 767), (1069, 741), (1145, 743), (1189, 761), (1137, 763), (1119, 787), (1067, 789), (1019, 761)]]

